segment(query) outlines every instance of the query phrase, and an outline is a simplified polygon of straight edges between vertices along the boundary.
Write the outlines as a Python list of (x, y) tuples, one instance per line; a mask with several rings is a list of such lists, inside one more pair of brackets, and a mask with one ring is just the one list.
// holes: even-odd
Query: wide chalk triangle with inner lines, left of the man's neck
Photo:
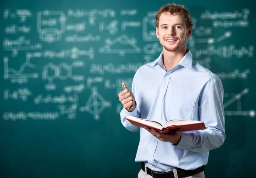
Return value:
[[(136, 40), (134, 38), (129, 39), (127, 35), (121, 35), (115, 40), (106, 39), (105, 43), (106, 45), (99, 49), (99, 53), (125, 56), (126, 53), (141, 52), (141, 49), (135, 44)], [(116, 47), (118, 49), (116, 49)]]

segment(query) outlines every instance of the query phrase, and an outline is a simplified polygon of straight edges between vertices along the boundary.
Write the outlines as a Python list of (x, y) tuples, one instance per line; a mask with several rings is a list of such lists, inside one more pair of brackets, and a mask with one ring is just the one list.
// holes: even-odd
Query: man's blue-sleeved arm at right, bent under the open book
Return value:
[(200, 121), (204, 121), (207, 129), (194, 133), (181, 133), (177, 147), (203, 153), (220, 147), (225, 140), (224, 128), (224, 90), (220, 79), (209, 86), (203, 93), (199, 103)]

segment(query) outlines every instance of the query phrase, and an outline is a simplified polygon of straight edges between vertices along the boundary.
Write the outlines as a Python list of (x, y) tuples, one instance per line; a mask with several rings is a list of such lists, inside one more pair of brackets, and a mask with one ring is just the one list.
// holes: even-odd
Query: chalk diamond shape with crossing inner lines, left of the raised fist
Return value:
[(111, 101), (106, 101), (100, 93), (98, 93), (96, 87), (91, 88), (91, 95), (86, 103), (85, 106), (80, 107), (80, 112), (88, 112), (90, 114), (93, 114), (93, 117), (95, 120), (100, 119), (100, 113), (105, 108), (111, 107)]

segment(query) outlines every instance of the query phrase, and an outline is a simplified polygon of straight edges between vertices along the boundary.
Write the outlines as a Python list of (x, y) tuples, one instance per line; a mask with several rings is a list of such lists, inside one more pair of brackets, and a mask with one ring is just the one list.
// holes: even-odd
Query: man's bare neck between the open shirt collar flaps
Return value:
[(163, 49), (163, 64), (166, 67), (166, 71), (174, 68), (180, 60), (186, 55), (186, 50), (170, 52)]

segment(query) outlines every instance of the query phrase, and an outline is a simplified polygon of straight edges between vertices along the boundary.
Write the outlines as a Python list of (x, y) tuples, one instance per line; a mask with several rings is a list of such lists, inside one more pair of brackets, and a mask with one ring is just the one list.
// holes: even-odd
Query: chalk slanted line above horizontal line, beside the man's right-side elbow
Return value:
[(230, 111), (225, 110), (225, 115), (227, 116), (250, 116), (255, 117), (255, 110), (249, 110), (244, 111), (241, 107), (241, 97), (249, 93), (249, 88), (244, 88), (240, 93), (237, 93), (235, 95), (231, 96), (231, 99), (227, 100), (227, 102), (224, 103), (224, 110), (228, 106), (230, 106), (232, 103), (236, 102), (237, 110), (236, 111)]

